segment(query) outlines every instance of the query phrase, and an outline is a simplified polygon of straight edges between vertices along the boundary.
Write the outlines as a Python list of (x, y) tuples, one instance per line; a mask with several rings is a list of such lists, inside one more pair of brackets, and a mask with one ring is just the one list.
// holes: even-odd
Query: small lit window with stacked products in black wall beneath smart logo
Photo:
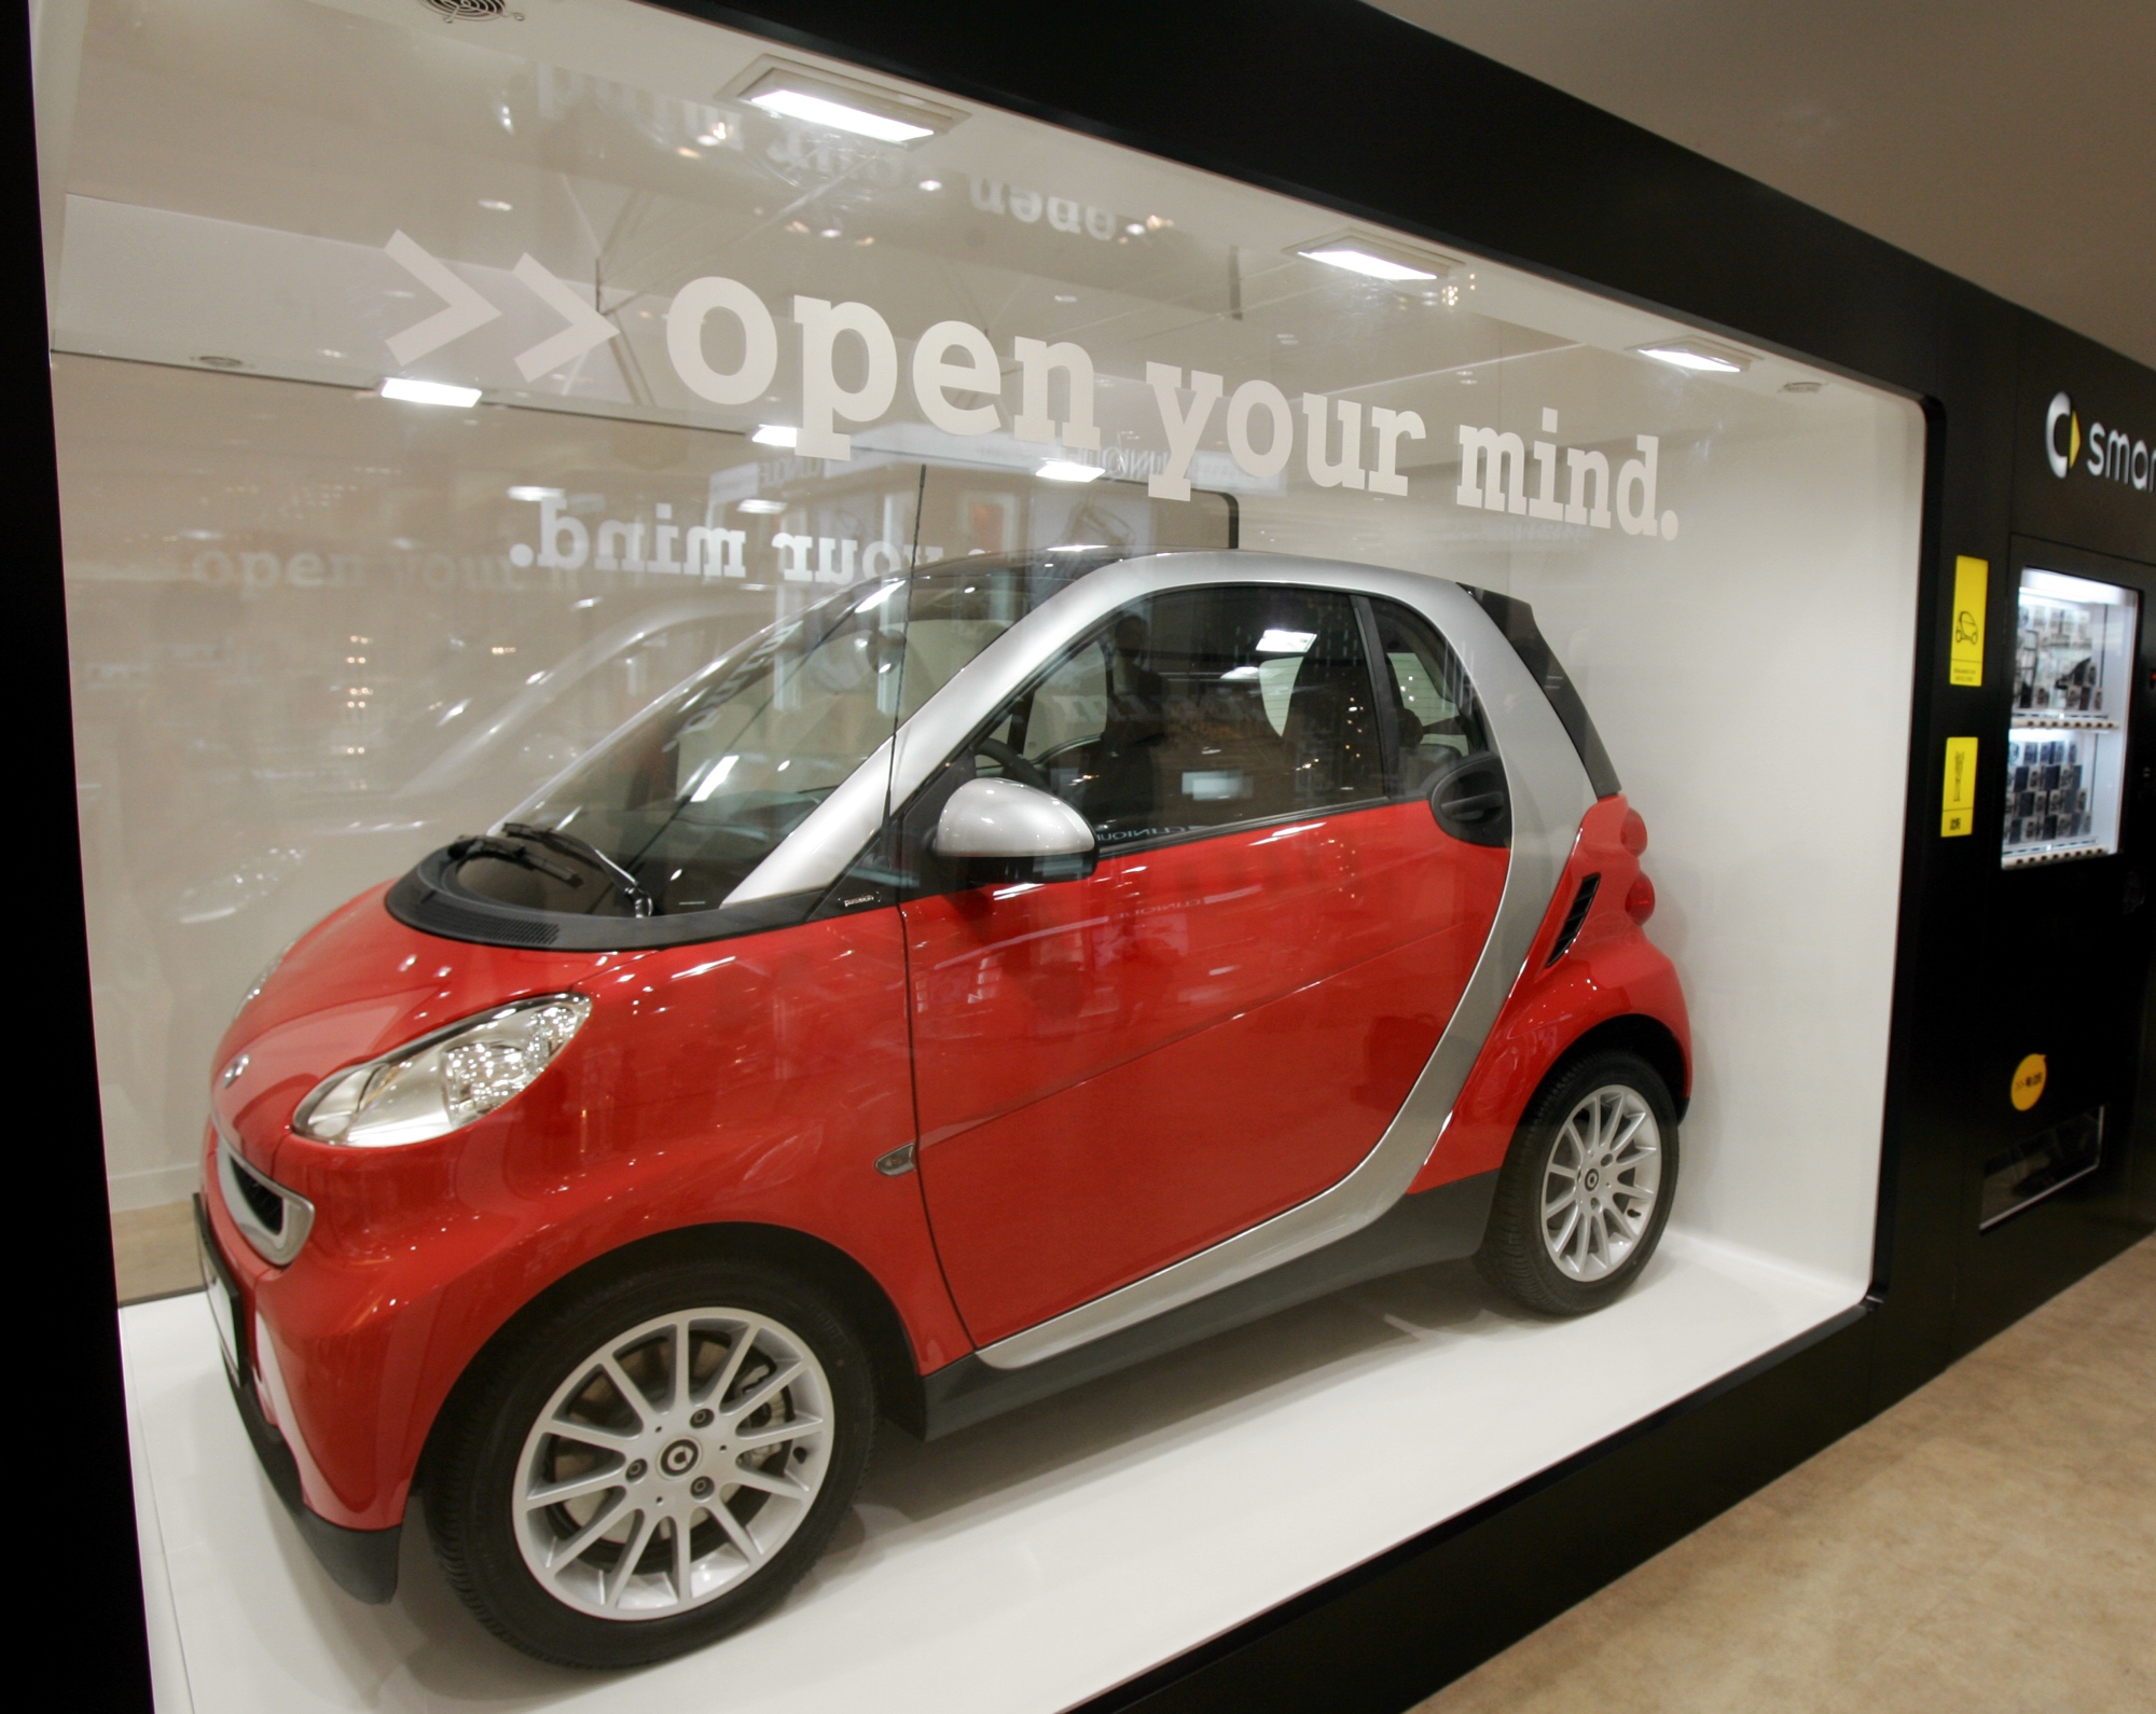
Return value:
[(2007, 869), (2119, 849), (2126, 709), (2141, 597), (2031, 567), (2014, 610)]

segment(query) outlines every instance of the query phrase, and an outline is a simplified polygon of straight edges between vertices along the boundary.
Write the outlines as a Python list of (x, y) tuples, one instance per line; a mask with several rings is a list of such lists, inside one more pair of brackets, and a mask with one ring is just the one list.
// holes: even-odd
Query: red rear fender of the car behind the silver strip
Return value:
[[(1671, 1095), (1680, 1102), (1690, 1095), (1692, 1033), (1684, 990), (1675, 966), (1632, 914), (1654, 910), (1654, 888), (1639, 862), (1645, 845), (1645, 824), (1623, 793), (1604, 798), (1580, 819), (1526, 968), (1408, 1194), (1503, 1166), (1526, 1104), (1589, 1031), (1617, 1026), (1626, 1046), (1660, 1061)], [(1565, 916), (1589, 875), (1602, 877), (1593, 906), (1572, 944), (1552, 962)]]

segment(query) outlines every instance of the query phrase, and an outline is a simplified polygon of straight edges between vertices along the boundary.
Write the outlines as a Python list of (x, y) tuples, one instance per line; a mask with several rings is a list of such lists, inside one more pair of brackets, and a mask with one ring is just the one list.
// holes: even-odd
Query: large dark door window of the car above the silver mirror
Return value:
[(1227, 586), (1134, 602), (996, 714), (975, 768), (1054, 791), (1104, 854), (1378, 802), (1354, 597)]

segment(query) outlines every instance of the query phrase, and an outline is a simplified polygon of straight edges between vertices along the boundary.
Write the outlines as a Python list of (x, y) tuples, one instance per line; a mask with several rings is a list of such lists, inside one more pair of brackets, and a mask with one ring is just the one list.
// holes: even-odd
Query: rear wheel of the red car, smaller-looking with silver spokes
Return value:
[(1602, 1309), (1647, 1266), (1675, 1188), (1669, 1084), (1639, 1054), (1589, 1052), (1529, 1102), (1475, 1263), (1544, 1315)]

